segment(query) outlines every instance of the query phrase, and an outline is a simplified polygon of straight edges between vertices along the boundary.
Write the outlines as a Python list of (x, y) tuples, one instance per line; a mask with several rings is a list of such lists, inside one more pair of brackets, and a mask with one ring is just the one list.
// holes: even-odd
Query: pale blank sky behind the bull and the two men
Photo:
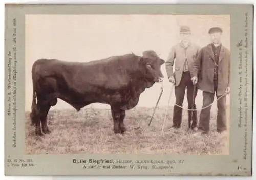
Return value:
[[(179, 43), (179, 26), (191, 28), (192, 42), (200, 47), (210, 43), (208, 29), (223, 29), (222, 43), (230, 49), (229, 15), (26, 15), (26, 111), (32, 102), (31, 68), (40, 58), (88, 62), (114, 55), (154, 50), (166, 61), (170, 48)], [(164, 92), (159, 106), (166, 106), (171, 85), (165, 64)], [(97, 73), (97, 72), (95, 72)], [(137, 106), (154, 107), (161, 84), (154, 84), (140, 96)], [(198, 92), (196, 104), (202, 106), (202, 92)], [(171, 106), (175, 103), (173, 93)], [(186, 96), (184, 106), (187, 106)], [(109, 108), (95, 103), (94, 108)], [(89, 105), (88, 107), (91, 107)], [(216, 107), (216, 104), (215, 106)], [(58, 99), (52, 108), (72, 108)]]

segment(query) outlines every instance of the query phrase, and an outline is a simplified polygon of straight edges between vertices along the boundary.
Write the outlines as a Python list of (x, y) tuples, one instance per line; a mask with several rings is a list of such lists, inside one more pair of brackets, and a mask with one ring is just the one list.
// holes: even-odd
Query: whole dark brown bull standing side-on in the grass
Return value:
[(86, 63), (37, 60), (32, 66), (30, 114), (35, 133), (50, 133), (47, 115), (50, 107), (56, 105), (57, 98), (77, 111), (91, 103), (109, 104), (114, 132), (124, 133), (125, 110), (138, 104), (145, 88), (162, 81), (160, 67), (163, 63), (154, 51), (144, 51), (143, 56), (131, 53)]

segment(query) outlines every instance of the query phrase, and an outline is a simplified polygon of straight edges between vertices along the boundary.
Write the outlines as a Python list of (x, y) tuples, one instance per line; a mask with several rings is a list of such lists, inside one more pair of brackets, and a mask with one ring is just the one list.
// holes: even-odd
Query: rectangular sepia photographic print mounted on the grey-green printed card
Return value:
[(229, 155), (230, 15), (25, 22), (26, 154)]

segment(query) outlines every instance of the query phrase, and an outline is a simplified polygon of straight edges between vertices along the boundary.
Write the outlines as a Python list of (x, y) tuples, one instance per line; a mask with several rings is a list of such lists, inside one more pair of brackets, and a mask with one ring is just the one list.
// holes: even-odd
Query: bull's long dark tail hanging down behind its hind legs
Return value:
[(33, 86), (33, 97), (32, 97), (32, 105), (31, 105), (31, 113), (30, 113), (31, 125), (35, 124), (35, 119), (36, 119), (36, 114), (37, 114), (36, 91), (35, 91), (35, 86), (36, 86), (35, 65), (36, 65), (36, 63), (33, 64), (32, 71), (31, 71), (31, 73), (32, 73), (32, 86)]

